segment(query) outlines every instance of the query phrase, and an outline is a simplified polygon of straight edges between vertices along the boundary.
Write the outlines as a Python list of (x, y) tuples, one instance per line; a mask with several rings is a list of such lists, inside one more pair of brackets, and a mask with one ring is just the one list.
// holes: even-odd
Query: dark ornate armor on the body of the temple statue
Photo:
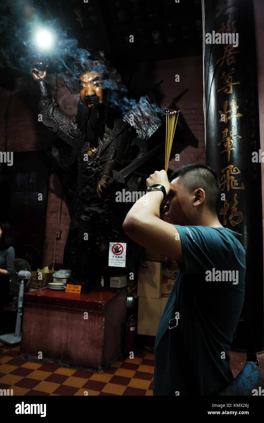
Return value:
[[(60, 109), (44, 81), (39, 82), (39, 87), (42, 122), (60, 139), (53, 143), (50, 158), (66, 195), (71, 217), (64, 250), (64, 266), (72, 269), (72, 276), (78, 280), (98, 279), (100, 272), (103, 274), (103, 269), (108, 265), (109, 241), (122, 242), (122, 221), (130, 207), (116, 203), (113, 192), (108, 198), (100, 198), (96, 192), (97, 184), (103, 175), (112, 176), (113, 170), (121, 170), (131, 162), (131, 143), (139, 146), (137, 157), (145, 154), (147, 143), (144, 137), (146, 139), (151, 135), (151, 131), (155, 132), (161, 122), (155, 121), (153, 129), (150, 129), (149, 125), (145, 125), (144, 129), (146, 116), (144, 111), (141, 111), (138, 131), (135, 131), (135, 122), (129, 121), (129, 113), (123, 120), (115, 119), (112, 129), (101, 123), (102, 136), (98, 138), (96, 151), (92, 151), (83, 132), (75, 124), (75, 116), (67, 115)], [(133, 110), (133, 113), (135, 114), (136, 110)], [(142, 139), (133, 139), (136, 137), (135, 132), (140, 134)], [(88, 156), (88, 160), (84, 160), (87, 151), (92, 154)], [(132, 179), (121, 187), (137, 190), (141, 182), (139, 179), (138, 176), (132, 176)], [(88, 240), (84, 240), (85, 234)], [(122, 236), (124, 238), (124, 235)], [(126, 241), (125, 238), (124, 240)]]

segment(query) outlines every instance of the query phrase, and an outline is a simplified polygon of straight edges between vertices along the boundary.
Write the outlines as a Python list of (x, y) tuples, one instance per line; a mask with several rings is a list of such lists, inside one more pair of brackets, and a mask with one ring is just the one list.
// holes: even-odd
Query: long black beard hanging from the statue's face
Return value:
[[(98, 116), (97, 111), (99, 112)], [(100, 124), (103, 122), (103, 116), (104, 104), (99, 103), (98, 98), (95, 99), (92, 107), (88, 107), (88, 103), (83, 102), (80, 97), (75, 123), (83, 131), (85, 140), (89, 142), (92, 148), (98, 147), (98, 137), (101, 132)]]

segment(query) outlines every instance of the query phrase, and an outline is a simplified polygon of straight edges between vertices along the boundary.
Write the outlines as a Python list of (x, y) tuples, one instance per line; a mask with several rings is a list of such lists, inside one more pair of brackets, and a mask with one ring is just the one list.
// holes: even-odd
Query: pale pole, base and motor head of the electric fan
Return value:
[(23, 297), (24, 297), (24, 280), (28, 280), (31, 277), (31, 272), (28, 270), (20, 270), (18, 272), (18, 278), (21, 279), (19, 284), (18, 304), (17, 304), (17, 321), (16, 329), (14, 333), (6, 333), (0, 336), (0, 341), (7, 345), (16, 345), (21, 342), (21, 321), (22, 321), (22, 309), (23, 309)]

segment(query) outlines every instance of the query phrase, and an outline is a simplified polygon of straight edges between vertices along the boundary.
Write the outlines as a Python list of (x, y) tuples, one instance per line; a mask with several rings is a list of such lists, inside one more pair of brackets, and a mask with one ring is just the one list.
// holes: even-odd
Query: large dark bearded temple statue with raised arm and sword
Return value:
[(142, 247), (122, 229), (132, 204), (117, 202), (116, 192), (145, 191), (149, 173), (134, 170), (123, 179), (118, 172), (147, 153), (147, 139), (162, 124), (158, 114), (150, 121), (148, 96), (127, 113), (114, 107), (121, 78), (104, 58), (88, 63), (79, 76), (76, 116), (64, 113), (50, 94), (47, 64), (33, 63), (31, 73), (40, 88), (42, 121), (57, 135), (49, 155), (71, 218), (63, 268), (71, 269), (73, 283), (89, 289), (102, 275), (117, 274), (108, 267), (109, 242), (127, 242), (126, 265), (134, 272), (137, 260), (145, 265)]

